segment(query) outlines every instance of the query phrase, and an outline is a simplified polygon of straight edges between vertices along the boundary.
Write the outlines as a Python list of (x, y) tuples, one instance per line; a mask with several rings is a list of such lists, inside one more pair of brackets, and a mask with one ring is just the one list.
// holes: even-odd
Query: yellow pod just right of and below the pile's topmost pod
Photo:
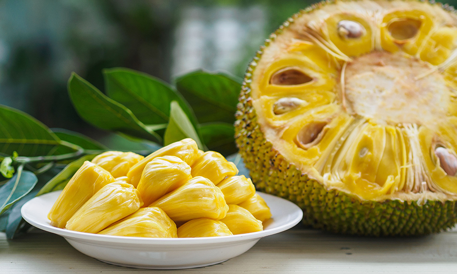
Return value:
[(192, 165), (192, 177), (202, 176), (217, 185), (227, 176), (238, 174), (237, 166), (215, 151), (207, 151)]

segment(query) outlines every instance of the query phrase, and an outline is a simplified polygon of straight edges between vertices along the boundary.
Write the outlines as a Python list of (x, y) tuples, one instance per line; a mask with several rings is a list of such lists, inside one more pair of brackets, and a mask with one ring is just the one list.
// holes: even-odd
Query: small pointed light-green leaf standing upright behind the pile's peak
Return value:
[(200, 149), (205, 149), (197, 134), (197, 130), (195, 130), (178, 102), (172, 101), (170, 109), (170, 122), (165, 130), (164, 145), (167, 146), (185, 138), (192, 138)]

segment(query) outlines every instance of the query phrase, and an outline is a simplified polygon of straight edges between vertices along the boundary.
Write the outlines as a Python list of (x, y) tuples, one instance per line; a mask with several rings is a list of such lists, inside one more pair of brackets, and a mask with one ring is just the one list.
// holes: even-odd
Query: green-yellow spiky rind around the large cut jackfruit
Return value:
[[(330, 3), (317, 3), (285, 21), (260, 47), (246, 70), (236, 113), (235, 138), (256, 189), (295, 202), (304, 212), (303, 222), (306, 225), (335, 233), (412, 236), (453, 227), (457, 223), (457, 201), (428, 200), (421, 205), (400, 200), (377, 202), (361, 200), (335, 189), (327, 190), (288, 163), (260, 130), (250, 88), (252, 73), (260, 56), (297, 17)], [(454, 12), (452, 7), (447, 6), (446, 10)]]

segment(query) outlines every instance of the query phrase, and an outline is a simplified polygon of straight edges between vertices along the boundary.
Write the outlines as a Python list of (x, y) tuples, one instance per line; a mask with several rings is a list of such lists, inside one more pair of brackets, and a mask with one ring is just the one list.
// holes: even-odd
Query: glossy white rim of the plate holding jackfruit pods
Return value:
[(295, 218), (288, 221), (287, 223), (280, 225), (275, 228), (266, 229), (263, 231), (251, 232), (246, 234), (230, 235), (230, 236), (218, 236), (218, 237), (195, 237), (195, 238), (148, 238), (148, 237), (130, 237), (130, 236), (113, 236), (113, 235), (101, 235), (94, 233), (86, 233), (79, 231), (72, 231), (62, 228), (53, 227), (49, 224), (43, 224), (41, 222), (36, 222), (30, 218), (28, 213), (28, 208), (32, 204), (37, 202), (39, 199), (50, 195), (57, 195), (61, 190), (49, 192), (37, 197), (34, 197), (27, 201), (21, 208), (21, 215), (24, 220), (35, 226), (39, 229), (42, 229), (47, 232), (51, 232), (65, 238), (71, 238), (74, 241), (78, 242), (98, 242), (104, 244), (135, 244), (135, 245), (152, 245), (152, 246), (176, 246), (176, 245), (207, 245), (207, 244), (224, 244), (224, 243), (236, 243), (244, 241), (252, 241), (253, 239), (259, 239), (273, 234), (280, 233), (287, 229), (292, 228), (297, 225), (303, 218), (303, 211), (295, 203), (288, 201), (284, 198), (256, 191), (262, 197), (269, 197), (273, 199), (278, 199), (281, 202), (285, 203), (288, 207), (292, 207), (293, 210), (290, 211), (289, 215), (296, 215)]

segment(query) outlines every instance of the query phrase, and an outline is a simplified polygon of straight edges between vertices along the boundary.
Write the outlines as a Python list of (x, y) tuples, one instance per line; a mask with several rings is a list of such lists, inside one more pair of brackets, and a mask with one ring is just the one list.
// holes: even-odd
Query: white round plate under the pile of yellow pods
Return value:
[(243, 254), (260, 238), (287, 230), (300, 222), (302, 210), (285, 199), (259, 193), (272, 213), (259, 232), (202, 238), (142, 238), (99, 235), (56, 228), (50, 225), (48, 212), (61, 191), (35, 197), (21, 209), (31, 225), (63, 236), (78, 251), (110, 264), (150, 268), (181, 269), (220, 263)]

